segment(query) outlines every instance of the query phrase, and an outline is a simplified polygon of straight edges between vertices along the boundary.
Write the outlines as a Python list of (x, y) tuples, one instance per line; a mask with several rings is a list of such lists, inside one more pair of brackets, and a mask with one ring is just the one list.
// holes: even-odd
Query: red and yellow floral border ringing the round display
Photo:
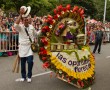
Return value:
[[(43, 62), (43, 68), (51, 69), (56, 73), (57, 77), (66, 80), (68, 83), (76, 84), (80, 88), (86, 88), (92, 85), (95, 79), (95, 58), (92, 53), (88, 56), (91, 63), (89, 70), (84, 73), (76, 73), (63, 66), (55, 56), (52, 56), (50, 51), (50, 38), (53, 29), (55, 28), (55, 25), (65, 17), (75, 19), (80, 24), (80, 30), (84, 33), (84, 9), (79, 6), (74, 6), (72, 8), (69, 4), (66, 7), (63, 7), (62, 5), (57, 6), (56, 9), (54, 9), (54, 15), (48, 15), (42, 27), (42, 34), (39, 38), (39, 57)], [(89, 46), (85, 46), (81, 49), (84, 50), (87, 48), (89, 48)]]

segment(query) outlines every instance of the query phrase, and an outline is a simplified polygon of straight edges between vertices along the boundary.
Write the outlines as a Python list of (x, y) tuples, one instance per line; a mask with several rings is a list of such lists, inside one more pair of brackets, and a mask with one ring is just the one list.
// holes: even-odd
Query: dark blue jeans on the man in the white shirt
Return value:
[(32, 68), (33, 68), (33, 55), (28, 57), (21, 57), (21, 75), (22, 78), (26, 79), (26, 61), (28, 63), (28, 73), (27, 77), (32, 77)]

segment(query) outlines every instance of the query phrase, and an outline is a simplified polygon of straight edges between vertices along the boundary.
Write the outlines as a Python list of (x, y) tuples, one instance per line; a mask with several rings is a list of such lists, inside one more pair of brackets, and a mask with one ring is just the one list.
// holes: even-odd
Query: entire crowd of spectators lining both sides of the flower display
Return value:
[[(12, 16), (12, 15), (10, 17), (0, 16), (0, 52), (4, 52), (4, 50), (6, 52), (7, 50), (18, 49), (19, 34), (16, 32), (13, 26), (17, 17), (18, 16)], [(35, 27), (36, 31), (40, 31), (45, 19), (46, 16), (43, 17), (38, 17), (36, 15), (34, 15), (33, 17), (30, 16), (30, 24), (32, 24)], [(20, 23), (22, 23), (22, 20)], [(107, 33), (105, 31), (105, 27), (106, 29), (110, 29), (110, 23), (106, 23), (105, 25), (103, 25), (103, 23), (101, 22), (87, 23), (86, 30), (87, 30), (87, 36), (89, 37), (89, 43), (94, 43), (95, 40), (94, 32), (97, 30), (97, 26), (99, 25), (102, 26), (102, 29), (105, 34), (104, 38), (106, 38)]]

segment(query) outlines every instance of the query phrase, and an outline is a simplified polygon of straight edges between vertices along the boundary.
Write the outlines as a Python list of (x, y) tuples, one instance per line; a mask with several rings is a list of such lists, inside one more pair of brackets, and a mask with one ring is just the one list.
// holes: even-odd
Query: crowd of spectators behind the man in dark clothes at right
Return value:
[(101, 26), (101, 30), (104, 33), (103, 42), (110, 42), (110, 23), (103, 24), (102, 22), (97, 23), (87, 23), (86, 30), (87, 36), (89, 37), (89, 44), (94, 44), (95, 34), (94, 32), (98, 30), (98, 26)]

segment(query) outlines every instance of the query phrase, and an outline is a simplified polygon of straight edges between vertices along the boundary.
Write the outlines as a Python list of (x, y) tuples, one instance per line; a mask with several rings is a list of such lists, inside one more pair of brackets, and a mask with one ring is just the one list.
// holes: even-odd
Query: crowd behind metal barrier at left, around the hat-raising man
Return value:
[[(32, 24), (36, 31), (41, 30), (42, 24), (45, 20), (44, 17), (38, 17), (34, 15), (30, 16), (30, 24)], [(14, 28), (14, 22), (17, 16), (14, 17), (2, 17), (0, 16), (0, 52), (6, 52), (8, 50), (16, 50), (18, 48), (18, 33)], [(22, 20), (21, 22), (22, 23)]]

